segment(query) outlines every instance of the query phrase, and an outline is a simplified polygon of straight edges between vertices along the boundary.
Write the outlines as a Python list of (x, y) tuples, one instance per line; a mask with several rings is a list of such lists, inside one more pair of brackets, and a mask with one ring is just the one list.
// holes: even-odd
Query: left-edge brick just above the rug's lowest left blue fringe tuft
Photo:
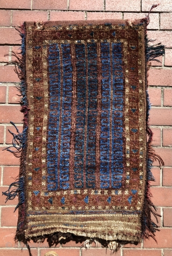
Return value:
[(3, 172), (3, 185), (10, 185), (19, 175), (19, 166), (6, 166)]

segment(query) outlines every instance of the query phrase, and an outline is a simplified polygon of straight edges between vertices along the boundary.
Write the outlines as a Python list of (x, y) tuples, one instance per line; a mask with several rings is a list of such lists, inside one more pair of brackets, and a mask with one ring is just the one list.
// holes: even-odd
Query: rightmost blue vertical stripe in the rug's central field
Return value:
[(123, 176), (123, 68), (121, 43), (112, 44), (113, 109), (111, 186), (121, 188)]

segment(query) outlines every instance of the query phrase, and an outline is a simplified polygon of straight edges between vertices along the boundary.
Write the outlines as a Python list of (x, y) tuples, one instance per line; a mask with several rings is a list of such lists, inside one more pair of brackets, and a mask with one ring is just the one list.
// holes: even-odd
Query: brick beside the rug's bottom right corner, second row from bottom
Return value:
[[(160, 229), (155, 233), (156, 241), (150, 239), (144, 240), (144, 248), (170, 248), (172, 247), (172, 229)], [(149, 254), (148, 254), (149, 255)]]

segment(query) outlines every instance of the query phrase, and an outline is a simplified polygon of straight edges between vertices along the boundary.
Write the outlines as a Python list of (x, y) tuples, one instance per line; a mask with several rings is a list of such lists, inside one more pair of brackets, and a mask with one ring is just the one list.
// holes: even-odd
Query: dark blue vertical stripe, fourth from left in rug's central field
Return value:
[(87, 45), (88, 51), (88, 122), (85, 180), (86, 188), (95, 188), (96, 170), (96, 125), (97, 125), (97, 45)]

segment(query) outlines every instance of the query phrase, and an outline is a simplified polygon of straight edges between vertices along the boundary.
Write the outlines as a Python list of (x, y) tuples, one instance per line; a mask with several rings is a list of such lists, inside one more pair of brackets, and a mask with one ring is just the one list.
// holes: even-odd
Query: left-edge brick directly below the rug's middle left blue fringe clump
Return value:
[(9, 151), (3, 151), (4, 148), (6, 147), (0, 148), (0, 165), (19, 165), (19, 158)]

